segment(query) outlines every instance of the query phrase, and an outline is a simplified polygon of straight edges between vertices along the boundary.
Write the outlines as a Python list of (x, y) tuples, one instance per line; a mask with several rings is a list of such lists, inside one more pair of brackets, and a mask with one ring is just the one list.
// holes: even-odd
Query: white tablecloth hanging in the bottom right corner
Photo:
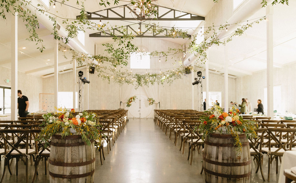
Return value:
[(296, 151), (286, 151), (281, 159), (281, 169), (279, 171), (279, 183), (285, 183), (284, 170), (296, 166)]

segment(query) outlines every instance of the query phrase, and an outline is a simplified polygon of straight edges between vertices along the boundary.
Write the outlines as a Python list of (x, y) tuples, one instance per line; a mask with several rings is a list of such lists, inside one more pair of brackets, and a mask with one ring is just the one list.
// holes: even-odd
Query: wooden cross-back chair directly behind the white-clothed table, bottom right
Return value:
[[(275, 134), (278, 133), (287, 133), (291, 134), (287, 137), (287, 142), (281, 142), (281, 135), (277, 137)], [(268, 156), (268, 181), (270, 180), (270, 165), (274, 159), (276, 159), (276, 174), (278, 173), (278, 158), (284, 155), (284, 152), (287, 150), (296, 150), (296, 148), (292, 148), (293, 140), (295, 138), (296, 129), (287, 129), (287, 128), (268, 128), (268, 147), (262, 147), (260, 150), (263, 154), (267, 154)], [(275, 144), (271, 144), (271, 140), (276, 142)]]

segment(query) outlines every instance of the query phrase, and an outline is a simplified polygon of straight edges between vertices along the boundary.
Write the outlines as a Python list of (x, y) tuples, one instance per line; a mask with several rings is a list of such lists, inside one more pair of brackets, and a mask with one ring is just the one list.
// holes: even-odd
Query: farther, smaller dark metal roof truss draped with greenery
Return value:
[[(168, 29), (163, 28), (163, 33), (150, 33), (148, 32), (150, 29), (152, 29), (153, 25), (148, 25), (143, 26), (141, 23), (137, 24), (131, 24), (131, 25), (126, 25), (123, 26), (127, 32), (122, 32), (122, 30), (120, 28), (114, 28), (111, 29), (112, 32), (108, 32), (108, 33), (103, 33), (103, 32), (97, 32), (97, 33), (92, 33), (89, 34), (89, 37), (96, 37), (96, 38), (110, 38), (110, 37), (114, 37), (114, 35), (116, 36), (123, 36), (126, 33), (135, 33), (137, 34), (135, 37), (141, 37), (141, 38), (171, 38), (170, 36), (168, 36)], [(139, 29), (140, 27), (140, 32), (137, 31), (137, 29)], [(191, 38), (191, 35), (186, 34), (187, 38)], [(183, 36), (175, 36), (174, 38), (183, 38)]]

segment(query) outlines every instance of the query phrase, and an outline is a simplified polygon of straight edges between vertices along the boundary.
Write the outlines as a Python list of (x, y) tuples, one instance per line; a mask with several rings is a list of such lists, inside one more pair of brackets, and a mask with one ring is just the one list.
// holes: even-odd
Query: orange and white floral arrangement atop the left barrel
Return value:
[(48, 141), (54, 134), (61, 134), (62, 137), (80, 134), (87, 145), (90, 145), (91, 141), (101, 142), (100, 131), (97, 128), (100, 125), (95, 113), (83, 111), (76, 114), (74, 109), (67, 111), (58, 108), (56, 113), (47, 113), (42, 117), (42, 129), (36, 140), (46, 142), (45, 147), (49, 145)]

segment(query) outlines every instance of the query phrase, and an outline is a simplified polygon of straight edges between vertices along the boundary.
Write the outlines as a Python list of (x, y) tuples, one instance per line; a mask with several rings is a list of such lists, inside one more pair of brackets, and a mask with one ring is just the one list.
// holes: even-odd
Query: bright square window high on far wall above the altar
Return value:
[(131, 53), (131, 69), (150, 69), (149, 52)]

